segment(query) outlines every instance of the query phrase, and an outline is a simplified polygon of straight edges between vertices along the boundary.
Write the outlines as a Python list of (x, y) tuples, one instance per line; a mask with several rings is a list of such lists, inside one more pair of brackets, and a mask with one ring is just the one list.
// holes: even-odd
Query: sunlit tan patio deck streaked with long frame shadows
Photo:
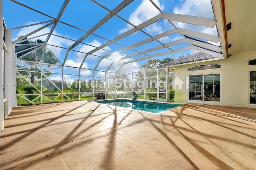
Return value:
[(2, 170), (256, 169), (256, 109), (153, 114), (80, 101), (16, 107), (4, 126)]

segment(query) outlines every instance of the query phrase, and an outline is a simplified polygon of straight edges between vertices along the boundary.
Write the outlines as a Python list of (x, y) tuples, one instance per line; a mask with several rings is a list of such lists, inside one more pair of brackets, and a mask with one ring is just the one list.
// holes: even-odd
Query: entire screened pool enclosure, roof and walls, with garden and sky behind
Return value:
[[(200, 12), (178, 2), (3, 1), (15, 49), (17, 106), (133, 98), (132, 92), (137, 99), (174, 102), (175, 70), (166, 63), (226, 56), (222, 23), (213, 12), (220, 2), (202, 1)], [(197, 61), (198, 52), (211, 57)]]

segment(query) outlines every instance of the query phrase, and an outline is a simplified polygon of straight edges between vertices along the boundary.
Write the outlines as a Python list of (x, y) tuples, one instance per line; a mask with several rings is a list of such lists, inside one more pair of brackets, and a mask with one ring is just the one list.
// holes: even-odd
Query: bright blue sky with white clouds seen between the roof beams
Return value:
[[(205, 18), (214, 18), (212, 5), (210, 0), (153, 0), (154, 3), (162, 10), (162, 12), (167, 13), (174, 13), (174, 14), (184, 14), (190, 16), (198, 16), (198, 17), (205, 17)], [(21, 27), (24, 25), (31, 25), (36, 24), (44, 21), (53, 20), (52, 18), (56, 18), (58, 12), (64, 2), (64, 0), (17, 0), (17, 2), (22, 3), (26, 6), (34, 8), (37, 11), (40, 11), (46, 15), (40, 14), (24, 6), (11, 2), (9, 0), (3, 0), (3, 16), (6, 22), (7, 29), (12, 29), (16, 27)], [(43, 2), (43, 3), (42, 3)], [(97, 3), (105, 6), (108, 10), (113, 10), (118, 4), (122, 2), (122, 0), (96, 0)], [(204, 8), (202, 8), (204, 7)], [(55, 57), (63, 63), (64, 58), (67, 53), (67, 49), (74, 44), (76, 40), (82, 37), (86, 32), (89, 31), (96, 23), (98, 23), (102, 18), (104, 18), (109, 11), (102, 8), (98, 4), (94, 3), (90, 0), (70, 0), (68, 6), (66, 7), (65, 11), (60, 18), (60, 21), (73, 25), (74, 27), (70, 27), (65, 25), (64, 23), (58, 23), (53, 31), (53, 34), (49, 41), (47, 47), (54, 53)], [(126, 23), (122, 19), (118, 18), (117, 16), (112, 17), (109, 21), (104, 23), (101, 27), (96, 29), (93, 34), (89, 35), (84, 39), (81, 43), (76, 45), (73, 48), (73, 51), (69, 51), (66, 62), (64, 63), (64, 74), (67, 78), (70, 78), (74, 75), (79, 74), (79, 67), (82, 64), (82, 61), (86, 55), (86, 53), (92, 51), (96, 47), (100, 47), (104, 45), (104, 43), (108, 43), (110, 40), (124, 34), (126, 31), (132, 29), (134, 26), (138, 26), (146, 20), (153, 18), (160, 14), (159, 10), (150, 2), (150, 0), (134, 0), (130, 3), (126, 8), (118, 12), (118, 16), (124, 18), (125, 20), (129, 21)], [(50, 17), (49, 17), (50, 16)], [(52, 17), (52, 18), (51, 18)], [(211, 35), (218, 36), (216, 31), (216, 27), (214, 28), (206, 28), (200, 27), (196, 25), (180, 23), (176, 21), (172, 21), (176, 27), (189, 29), (192, 31), (199, 31), (202, 33), (208, 33)], [(26, 35), (44, 25), (48, 24), (40, 23), (34, 26), (22, 27), (20, 29), (12, 29), (12, 41), (18, 39), (20, 35)], [(36, 37), (46, 40), (47, 35), (51, 30), (52, 25), (42, 29), (34, 33), (29, 37)], [(80, 29), (77, 29), (80, 28)], [(150, 38), (150, 36), (156, 36), (160, 33), (164, 33), (170, 29), (174, 29), (174, 26), (167, 20), (160, 20), (157, 21), (148, 27), (143, 28), (144, 31), (138, 31), (127, 37), (115, 41), (115, 43), (110, 43), (109, 45), (105, 45), (104, 48), (92, 53), (92, 55), (88, 55), (86, 57), (82, 68), (81, 75), (83, 78), (88, 78), (89, 76), (93, 76), (93, 70), (95, 71), (95, 76), (98, 77), (105, 77), (105, 71), (110, 64), (114, 61), (112, 66), (110, 67), (110, 73), (116, 72), (119, 68), (120, 58), (126, 57), (129, 55), (135, 55), (144, 50), (148, 50), (153, 47), (160, 46), (162, 44), (170, 43), (172, 41), (177, 41), (179, 39), (183, 39), (182, 35), (178, 33), (171, 34), (166, 37), (162, 37), (158, 39), (158, 41), (152, 41), (150, 43), (146, 43), (144, 45), (140, 45), (138, 47), (134, 47), (133, 49), (129, 49), (126, 51), (118, 52), (118, 50), (124, 49), (125, 47), (129, 47), (135, 43), (143, 41), (144, 39)], [(146, 34), (145, 34), (146, 33)], [(148, 35), (150, 36), (148, 36)], [(66, 37), (62, 38), (62, 37)], [(72, 41), (74, 40), (74, 41)], [(162, 44), (161, 44), (162, 43)], [(214, 44), (214, 43), (213, 43)], [(54, 45), (54, 46), (52, 46)], [(179, 49), (181, 47), (188, 46), (188, 43), (181, 43), (179, 45), (175, 45), (170, 47), (171, 49)], [(216, 44), (220, 45), (220, 44)], [(122, 62), (130, 62), (134, 59), (140, 59), (147, 56), (152, 56), (157, 53), (162, 53), (170, 51), (169, 49), (159, 49), (156, 51), (150, 51), (146, 53), (146, 55), (135, 55), (135, 57), (127, 58), (122, 60)], [(194, 53), (197, 51), (194, 51)], [(181, 55), (192, 54), (192, 50), (181, 51), (178, 53), (174, 53), (174, 56), (178, 58)], [(109, 56), (107, 56), (109, 55)], [(100, 61), (101, 57), (104, 59)], [(106, 57), (106, 58), (105, 58)], [(166, 57), (174, 58), (173, 54), (163, 55), (160, 57), (156, 57), (154, 59), (164, 59)], [(133, 62), (129, 63), (129, 65), (125, 66), (121, 70), (125, 70), (125, 72), (138, 72), (138, 68), (141, 65), (145, 64), (147, 60), (143, 60), (140, 62)], [(78, 67), (78, 68), (70, 68)], [(97, 67), (96, 67), (97, 66)], [(96, 68), (95, 68), (96, 67)], [(51, 76), (51, 79), (54, 80), (61, 80), (62, 69), (59, 66), (54, 66), (51, 69), (51, 72), (54, 73)]]

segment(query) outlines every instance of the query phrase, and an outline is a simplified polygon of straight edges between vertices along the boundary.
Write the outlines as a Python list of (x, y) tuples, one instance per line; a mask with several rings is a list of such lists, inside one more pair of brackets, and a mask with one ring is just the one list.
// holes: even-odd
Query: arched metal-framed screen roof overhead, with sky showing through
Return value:
[(13, 44), (42, 39), (37, 47), (67, 68), (133, 70), (198, 52), (223, 58), (211, 0), (5, 0), (3, 9)]

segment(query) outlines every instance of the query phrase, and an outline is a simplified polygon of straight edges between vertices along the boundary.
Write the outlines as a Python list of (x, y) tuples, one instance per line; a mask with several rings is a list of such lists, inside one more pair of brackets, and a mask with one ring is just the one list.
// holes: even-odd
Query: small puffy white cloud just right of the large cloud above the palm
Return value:
[[(86, 44), (89, 44), (89, 45), (85, 45), (85, 44), (84, 44), (84, 45), (78, 47), (77, 51), (81, 51), (81, 52), (84, 52), (84, 53), (88, 53), (89, 51), (92, 51), (93, 49), (95, 49), (95, 47), (99, 47), (100, 45), (102, 45), (102, 43), (100, 43), (100, 42), (97, 41), (96, 39), (94, 39), (92, 42), (86, 43)], [(94, 46), (94, 47), (92, 47), (92, 46), (90, 46), (90, 45), (92, 45), (92, 46)], [(110, 51), (110, 47), (108, 47), (108, 46), (104, 47), (103, 49)], [(102, 56), (102, 55), (104, 55), (105, 53), (107, 53), (107, 51), (105, 51), (105, 50), (103, 50), (103, 49), (100, 49), (100, 50), (96, 51), (96, 52), (93, 53), (93, 54), (94, 54), (94, 55), (98, 55), (98, 56)], [(80, 58), (84, 58), (85, 55), (86, 55), (86, 54), (84, 54), (84, 53), (76, 52), (76, 56), (77, 56), (77, 57), (80, 57)], [(92, 59), (92, 60), (93, 60), (93, 59), (95, 59), (95, 56), (89, 55), (89, 56), (87, 57), (87, 59)]]

